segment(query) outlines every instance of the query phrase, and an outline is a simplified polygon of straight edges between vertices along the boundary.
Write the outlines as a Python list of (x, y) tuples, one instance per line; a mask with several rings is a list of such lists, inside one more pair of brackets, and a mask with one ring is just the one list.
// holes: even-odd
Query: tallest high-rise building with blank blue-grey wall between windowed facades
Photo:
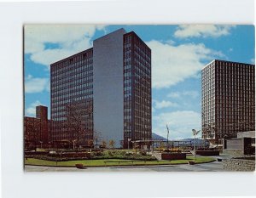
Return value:
[(150, 140), (151, 49), (124, 29), (93, 41), (93, 48), (50, 65), (51, 139), (70, 140), (68, 108), (77, 106), (84, 143), (100, 134), (115, 146)]

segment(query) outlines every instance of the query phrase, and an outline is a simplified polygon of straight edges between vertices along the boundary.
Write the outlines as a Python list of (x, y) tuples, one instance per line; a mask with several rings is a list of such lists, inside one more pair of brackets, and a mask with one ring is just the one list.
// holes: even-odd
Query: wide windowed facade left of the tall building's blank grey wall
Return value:
[[(83, 139), (93, 139), (93, 49), (87, 49), (50, 66), (51, 133), (53, 142), (74, 141), (72, 123), (77, 119), (84, 127)], [(73, 115), (71, 115), (73, 111)]]

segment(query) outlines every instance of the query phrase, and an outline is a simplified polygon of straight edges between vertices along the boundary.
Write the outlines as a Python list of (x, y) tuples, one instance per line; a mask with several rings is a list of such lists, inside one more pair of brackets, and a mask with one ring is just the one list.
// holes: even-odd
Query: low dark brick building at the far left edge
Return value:
[(49, 147), (48, 108), (43, 105), (36, 107), (36, 117), (24, 117), (25, 148)]

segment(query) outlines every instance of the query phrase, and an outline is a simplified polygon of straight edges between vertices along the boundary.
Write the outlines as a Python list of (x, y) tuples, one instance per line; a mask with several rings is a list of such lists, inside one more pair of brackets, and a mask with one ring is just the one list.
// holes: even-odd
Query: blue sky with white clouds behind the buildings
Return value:
[[(49, 65), (124, 28), (152, 50), (152, 132), (169, 139), (201, 130), (201, 68), (212, 59), (254, 64), (253, 25), (26, 25), (25, 115), (50, 108)], [(50, 110), (49, 110), (50, 112)], [(50, 114), (49, 114), (50, 117)]]

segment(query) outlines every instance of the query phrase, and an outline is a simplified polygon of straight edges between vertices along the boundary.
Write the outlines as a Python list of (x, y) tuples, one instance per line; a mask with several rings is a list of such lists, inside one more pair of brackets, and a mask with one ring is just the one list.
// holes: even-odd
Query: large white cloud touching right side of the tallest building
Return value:
[(190, 76), (196, 76), (204, 66), (203, 60), (210, 61), (215, 57), (224, 56), (202, 43), (172, 46), (153, 40), (147, 44), (152, 50), (153, 88), (169, 88)]

